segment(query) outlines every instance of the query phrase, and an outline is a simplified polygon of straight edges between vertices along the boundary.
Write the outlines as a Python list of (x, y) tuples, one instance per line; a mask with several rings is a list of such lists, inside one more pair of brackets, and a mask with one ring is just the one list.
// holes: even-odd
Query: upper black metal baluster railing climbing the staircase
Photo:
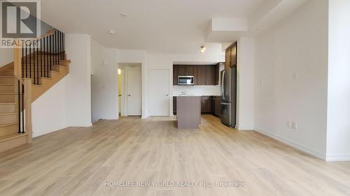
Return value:
[[(33, 84), (40, 77), (50, 77), (50, 71), (65, 59), (65, 35), (57, 29), (22, 47), (22, 78), (31, 78)], [(34, 44), (32, 44), (34, 43)]]

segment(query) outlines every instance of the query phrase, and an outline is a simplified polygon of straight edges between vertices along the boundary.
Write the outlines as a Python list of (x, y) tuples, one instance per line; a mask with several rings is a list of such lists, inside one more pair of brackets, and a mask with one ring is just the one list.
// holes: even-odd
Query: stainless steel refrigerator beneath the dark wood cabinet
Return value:
[(226, 126), (236, 126), (237, 68), (221, 71), (221, 122)]

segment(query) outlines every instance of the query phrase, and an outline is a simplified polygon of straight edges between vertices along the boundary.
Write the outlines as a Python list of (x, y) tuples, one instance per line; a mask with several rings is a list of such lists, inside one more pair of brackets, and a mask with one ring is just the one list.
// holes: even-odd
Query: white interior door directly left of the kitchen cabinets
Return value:
[(151, 116), (169, 116), (169, 70), (151, 69), (149, 80)]

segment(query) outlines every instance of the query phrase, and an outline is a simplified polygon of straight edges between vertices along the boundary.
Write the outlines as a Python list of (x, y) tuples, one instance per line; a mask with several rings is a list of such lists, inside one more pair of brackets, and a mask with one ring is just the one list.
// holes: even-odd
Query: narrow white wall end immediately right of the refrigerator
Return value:
[(255, 39), (240, 38), (237, 48), (237, 118), (236, 128), (254, 128)]

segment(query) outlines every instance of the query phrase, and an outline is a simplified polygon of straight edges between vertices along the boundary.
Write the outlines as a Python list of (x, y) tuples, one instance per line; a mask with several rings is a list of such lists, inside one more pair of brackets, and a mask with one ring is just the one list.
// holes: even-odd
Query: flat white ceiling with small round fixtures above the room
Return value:
[(188, 53), (204, 44), (211, 18), (247, 18), (265, 1), (271, 0), (41, 0), (41, 16), (106, 47)]

